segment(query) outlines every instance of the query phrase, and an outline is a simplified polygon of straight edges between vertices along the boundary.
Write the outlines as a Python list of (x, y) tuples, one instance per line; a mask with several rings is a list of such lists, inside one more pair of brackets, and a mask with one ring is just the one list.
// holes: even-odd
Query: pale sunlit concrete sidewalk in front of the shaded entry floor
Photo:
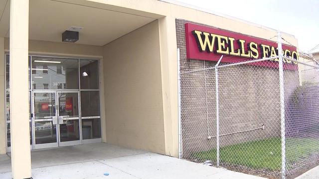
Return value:
[[(109, 176), (104, 176), (109, 173)], [(262, 179), (154, 153), (32, 169), (33, 179)], [(11, 179), (11, 173), (0, 174)]]

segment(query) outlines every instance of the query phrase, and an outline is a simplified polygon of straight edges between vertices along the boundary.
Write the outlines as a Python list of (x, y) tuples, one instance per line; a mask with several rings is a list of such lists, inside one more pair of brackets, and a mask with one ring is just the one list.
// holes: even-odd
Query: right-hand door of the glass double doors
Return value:
[(79, 92), (57, 91), (59, 146), (81, 144)]

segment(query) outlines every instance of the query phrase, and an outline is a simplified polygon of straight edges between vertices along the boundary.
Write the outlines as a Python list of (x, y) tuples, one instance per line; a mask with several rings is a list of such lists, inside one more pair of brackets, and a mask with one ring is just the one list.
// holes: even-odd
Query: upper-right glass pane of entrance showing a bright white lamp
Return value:
[(81, 89), (99, 89), (99, 62), (80, 60)]

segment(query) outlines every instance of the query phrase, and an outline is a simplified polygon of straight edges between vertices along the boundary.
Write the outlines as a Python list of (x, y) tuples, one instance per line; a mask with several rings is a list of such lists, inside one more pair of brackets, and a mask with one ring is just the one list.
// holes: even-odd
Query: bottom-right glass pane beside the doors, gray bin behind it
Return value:
[(83, 140), (101, 138), (100, 118), (82, 119), (82, 137)]

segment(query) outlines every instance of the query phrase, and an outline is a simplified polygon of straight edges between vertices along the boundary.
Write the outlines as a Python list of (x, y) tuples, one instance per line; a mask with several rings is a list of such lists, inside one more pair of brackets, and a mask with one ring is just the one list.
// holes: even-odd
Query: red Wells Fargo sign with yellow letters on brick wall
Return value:
[[(187, 59), (218, 61), (221, 55), (227, 55), (221, 62), (234, 63), (278, 55), (277, 42), (192, 23), (185, 24), (185, 38)], [(286, 44), (282, 47), (285, 56), (299, 59), (296, 47)], [(276, 61), (252, 65), (278, 67)], [(284, 68), (298, 69), (298, 66), (284, 59)]]

